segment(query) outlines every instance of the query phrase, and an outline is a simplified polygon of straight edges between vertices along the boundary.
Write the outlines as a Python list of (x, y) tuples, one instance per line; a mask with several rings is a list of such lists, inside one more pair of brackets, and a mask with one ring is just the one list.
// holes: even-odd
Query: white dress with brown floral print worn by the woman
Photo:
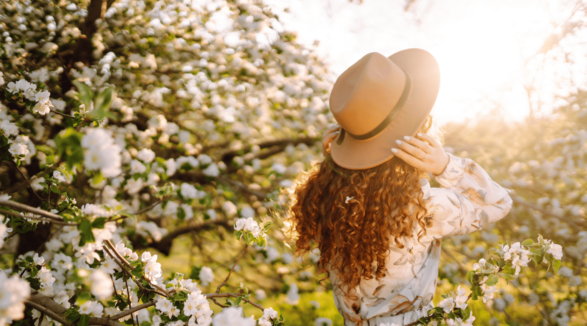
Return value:
[[(481, 230), (510, 211), (512, 200), (505, 188), (473, 160), (448, 155), (444, 173), (436, 176), (442, 188), (431, 188), (428, 180), (421, 180), (429, 213), (426, 236), (420, 241), (400, 238), (403, 248), (390, 241), (387, 273), (379, 280), (362, 279), (348, 289), (339, 284), (336, 273), (330, 273), (334, 301), (345, 326), (406, 325), (427, 315), (434, 308), (441, 238)], [(415, 228), (417, 234), (419, 226)]]

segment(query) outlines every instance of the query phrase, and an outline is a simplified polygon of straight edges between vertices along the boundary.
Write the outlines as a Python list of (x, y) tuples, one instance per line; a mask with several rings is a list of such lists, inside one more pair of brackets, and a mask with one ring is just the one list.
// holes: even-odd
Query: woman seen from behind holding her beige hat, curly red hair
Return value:
[[(369, 53), (336, 80), (325, 160), (289, 207), (297, 251), (318, 247), (345, 325), (406, 325), (427, 315), (441, 238), (481, 230), (511, 208), (508, 191), (431, 135), (440, 73), (421, 49)], [(428, 135), (430, 133), (431, 135)], [(332, 143), (331, 143), (332, 142)], [(441, 188), (431, 188), (434, 175)]]

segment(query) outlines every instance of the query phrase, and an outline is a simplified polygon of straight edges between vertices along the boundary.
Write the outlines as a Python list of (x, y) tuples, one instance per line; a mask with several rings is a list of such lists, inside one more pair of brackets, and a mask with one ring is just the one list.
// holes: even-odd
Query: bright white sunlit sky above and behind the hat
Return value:
[(312, 45), (338, 76), (369, 52), (386, 56), (407, 48), (431, 52), (441, 70), (433, 113), (463, 120), (501, 103), (504, 115), (529, 112), (525, 62), (539, 51), (555, 24), (568, 18), (573, 0), (265, 0), (289, 8), (281, 16), (298, 41)]

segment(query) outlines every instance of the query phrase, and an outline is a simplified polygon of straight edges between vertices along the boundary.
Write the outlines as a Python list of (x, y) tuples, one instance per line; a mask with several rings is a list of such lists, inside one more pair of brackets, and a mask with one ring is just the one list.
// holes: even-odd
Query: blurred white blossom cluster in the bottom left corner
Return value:
[(21, 320), (25, 311), (25, 300), (31, 294), (31, 287), (18, 275), (8, 277), (0, 270), (0, 325), (9, 325), (13, 320)]

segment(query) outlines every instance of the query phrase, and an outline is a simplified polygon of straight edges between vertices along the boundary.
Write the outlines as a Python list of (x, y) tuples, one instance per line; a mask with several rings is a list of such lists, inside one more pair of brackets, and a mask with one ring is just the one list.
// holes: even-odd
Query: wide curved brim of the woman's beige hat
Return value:
[[(330, 144), (330, 154), (336, 164), (345, 169), (363, 170), (377, 166), (393, 157), (396, 140), (414, 136), (430, 114), (440, 88), (440, 69), (434, 57), (423, 49), (407, 49), (389, 59), (410, 75), (411, 90), (402, 109), (392, 122), (366, 140), (346, 135), (341, 144)], [(391, 111), (393, 108), (390, 107)], [(340, 137), (340, 136), (339, 136)]]

